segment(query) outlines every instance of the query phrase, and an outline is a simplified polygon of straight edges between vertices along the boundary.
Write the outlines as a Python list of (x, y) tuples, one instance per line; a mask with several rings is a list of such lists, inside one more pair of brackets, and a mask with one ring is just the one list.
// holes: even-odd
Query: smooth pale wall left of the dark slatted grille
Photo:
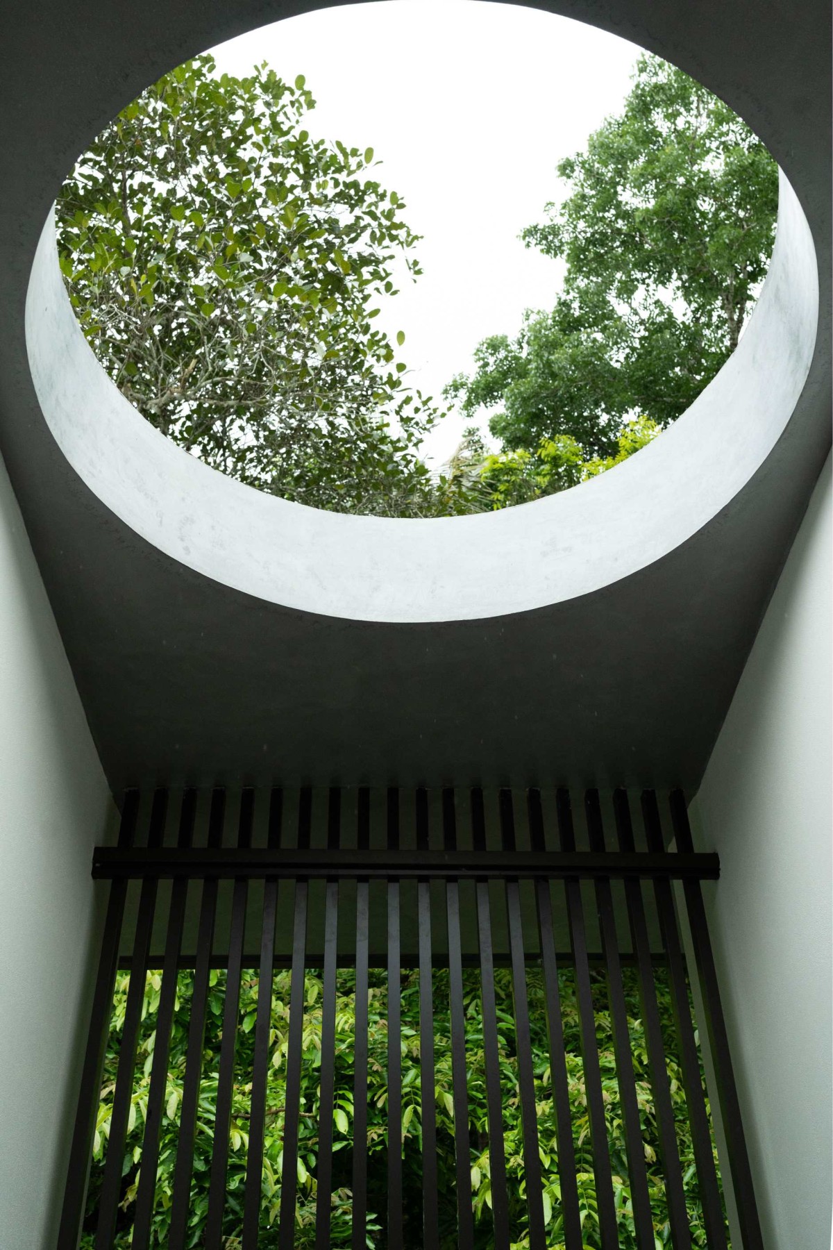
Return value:
[(51, 1250), (107, 785), (0, 464), (0, 1246)]

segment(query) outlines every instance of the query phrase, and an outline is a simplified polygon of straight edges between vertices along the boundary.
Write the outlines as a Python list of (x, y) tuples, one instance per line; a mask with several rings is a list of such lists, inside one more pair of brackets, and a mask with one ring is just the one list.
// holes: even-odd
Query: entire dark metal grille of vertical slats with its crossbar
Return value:
[[(323, 992), (321, 1108), (328, 1108), (330, 1114), (322, 1114), (318, 1124), (315, 1244), (321, 1250), (328, 1248), (336, 975), (337, 968), (345, 964), (355, 969), (356, 976), (355, 1250), (367, 1244), (367, 984), (371, 966), (387, 969), (391, 989), (387, 1012), (388, 1141), (400, 1138), (402, 1108), (400, 999), (392, 989), (398, 984), (403, 968), (418, 969), (422, 1245), (427, 1250), (438, 1250), (440, 1246), (432, 1020), (432, 970), (438, 965), (448, 970), (451, 1000), (457, 1241), (461, 1250), (472, 1250), (475, 1245), (468, 1200), (462, 994), (463, 969), (475, 965), (480, 969), (482, 995), (493, 1244), (500, 1250), (508, 1250), (511, 1242), (495, 992), (495, 968), (505, 965), (511, 969), (512, 982), (530, 1245), (532, 1250), (545, 1250), (548, 1242), (526, 980), (531, 959), (538, 961), (543, 974), (566, 1250), (582, 1250), (583, 1240), (561, 1026), (558, 969), (564, 962), (572, 965), (576, 978), (602, 1250), (616, 1250), (618, 1234), (591, 989), (591, 966), (596, 962), (604, 969), (608, 989), (632, 1215), (639, 1250), (654, 1250), (654, 1234), (631, 1062), (623, 992), (624, 964), (634, 965), (638, 978), (673, 1250), (687, 1250), (692, 1240), (659, 1028), (654, 979), (657, 964), (666, 969), (672, 992), (708, 1248), (726, 1250), (727, 1235), (697, 1036), (689, 1010), (689, 976), (692, 980), (697, 978), (699, 986), (704, 1018), (701, 1031), (708, 1036), (727, 1142), (727, 1159), (722, 1160), (723, 1182), (732, 1186), (743, 1250), (763, 1250), (701, 890), (703, 880), (718, 878), (718, 858), (693, 850), (682, 792), (674, 791), (668, 796), (666, 811), (669, 819), (663, 822), (657, 795), (644, 791), (638, 800), (638, 832), (634, 830), (632, 801), (633, 798), (624, 790), (617, 790), (612, 796), (599, 796), (598, 791), (588, 790), (576, 804), (574, 796), (566, 789), (542, 795), (537, 789), (522, 792), (505, 789), (490, 794), (480, 789), (420, 789), (407, 792), (388, 789), (378, 794), (362, 788), (332, 788), (326, 795), (315, 796), (310, 788), (286, 794), (281, 789), (269, 794), (250, 789), (235, 795), (234, 804), (227, 801), (222, 789), (200, 794), (186, 789), (171, 795), (170, 801), (164, 789), (151, 795), (127, 791), (122, 801), (117, 845), (96, 848), (94, 854), (92, 875), (106, 882), (101, 888), (109, 890), (109, 899), (67, 1160), (57, 1250), (76, 1250), (79, 1245), (114, 985), (120, 966), (129, 968), (131, 976), (95, 1250), (110, 1250), (114, 1241), (145, 974), (152, 968), (161, 969), (161, 990), (132, 1248), (149, 1250), (151, 1245), (169, 1036), (177, 970), (184, 966), (194, 969), (194, 998), (174, 1168), (169, 1250), (185, 1250), (186, 1245), (206, 1002), (211, 970), (219, 966), (227, 969), (227, 979), (204, 1245), (206, 1250), (221, 1250), (224, 1245), (237, 996), (245, 968), (259, 970), (259, 999), (241, 1246), (242, 1250), (255, 1250), (259, 1242), (272, 972), (277, 966), (288, 966), (290, 1032), (277, 1245), (280, 1250), (291, 1250), (295, 1245), (303, 974), (305, 969), (316, 968), (322, 970)], [(171, 809), (175, 806), (177, 814), (172, 819)], [(582, 818), (578, 838), (574, 810)], [(669, 851), (666, 844), (672, 838), (676, 849)], [(169, 881), (165, 906), (160, 902), (160, 886)], [(250, 905), (252, 881), (264, 882), (262, 888), (259, 886), (256, 914)], [(222, 886), (222, 882), (231, 885)], [(622, 885), (614, 890), (613, 882)], [(679, 886), (676, 889), (673, 882), (679, 882)], [(320, 902), (321, 891), (323, 905), (320, 908), (316, 904), (313, 916), (311, 898), (315, 892)], [(287, 902), (290, 894), (291, 906)], [(501, 914), (500, 922), (496, 920), (496, 906)], [(624, 921), (629, 940), (623, 940)], [(445, 934), (442, 942), (437, 942), (437, 926)], [(351, 935), (346, 949), (345, 928)], [(222, 940), (219, 939), (221, 929)], [(693, 955), (691, 969), (684, 932)], [(559, 934), (567, 935), (563, 945), (559, 945)], [(251, 940), (252, 935), (259, 939), (256, 942)], [(320, 941), (320, 949), (311, 949), (311, 938)], [(403, 1238), (402, 1155), (400, 1150), (390, 1150), (385, 1245), (391, 1250), (401, 1248)]]

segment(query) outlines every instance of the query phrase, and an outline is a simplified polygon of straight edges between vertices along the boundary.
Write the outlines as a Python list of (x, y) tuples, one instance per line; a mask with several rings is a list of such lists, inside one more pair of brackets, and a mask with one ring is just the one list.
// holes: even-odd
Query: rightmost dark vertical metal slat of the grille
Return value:
[[(686, 799), (682, 790), (674, 790), (671, 795), (671, 818), (674, 835), (677, 838), (677, 850), (691, 852), (694, 848), (688, 824), (688, 811), (686, 810)], [(712, 951), (712, 941), (708, 935), (706, 908), (703, 905), (703, 891), (699, 881), (686, 881), (683, 889), (686, 896), (686, 910), (688, 911), (688, 922), (692, 934), (692, 945), (694, 948), (694, 962), (697, 965), (697, 975), (703, 995), (706, 1029), (708, 1032), (712, 1061), (714, 1064), (717, 1094), (723, 1116), (726, 1146), (729, 1156), (729, 1171), (732, 1174), (732, 1189), (734, 1192), (734, 1201), (737, 1204), (743, 1250), (763, 1250), (758, 1204), (754, 1196), (752, 1168), (749, 1166), (749, 1155), (743, 1132), (743, 1118), (741, 1115), (741, 1102), (734, 1081), (734, 1070), (732, 1066), (732, 1055), (729, 1052), (729, 1039), (726, 1029), (723, 1005), (721, 1002), (721, 991), (717, 982), (714, 954)]]

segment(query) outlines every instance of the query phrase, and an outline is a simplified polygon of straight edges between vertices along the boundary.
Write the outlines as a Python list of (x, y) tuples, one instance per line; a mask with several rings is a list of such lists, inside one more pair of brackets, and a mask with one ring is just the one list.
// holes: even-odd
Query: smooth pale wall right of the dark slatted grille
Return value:
[(831, 460), (692, 805), (767, 1250), (831, 1245)]

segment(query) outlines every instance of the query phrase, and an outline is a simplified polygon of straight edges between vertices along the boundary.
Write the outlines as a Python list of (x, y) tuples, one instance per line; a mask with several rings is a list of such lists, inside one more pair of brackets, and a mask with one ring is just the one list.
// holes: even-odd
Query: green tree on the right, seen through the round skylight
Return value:
[(505, 450), (569, 438), (598, 464), (638, 414), (676, 420), (737, 346), (772, 250), (777, 168), (721, 100), (643, 55), (621, 116), (557, 171), (566, 199), (522, 235), (566, 268), (556, 305), (483, 340), (446, 394), (467, 415), (495, 410)]

